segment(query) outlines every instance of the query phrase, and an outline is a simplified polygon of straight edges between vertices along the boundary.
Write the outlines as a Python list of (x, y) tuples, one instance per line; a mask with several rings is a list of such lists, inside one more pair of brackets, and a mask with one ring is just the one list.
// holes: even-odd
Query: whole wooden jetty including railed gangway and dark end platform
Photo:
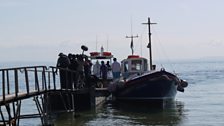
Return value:
[[(0, 125), (19, 125), (20, 119), (40, 117), (42, 125), (51, 125), (49, 117), (58, 112), (76, 112), (95, 107), (96, 97), (109, 96), (106, 88), (94, 84), (81, 88), (62, 88), (56, 67), (31, 66), (0, 69)], [(67, 73), (71, 71), (64, 69)], [(66, 76), (66, 79), (67, 78)], [(67, 83), (66, 83), (67, 84)], [(22, 102), (32, 98), (38, 113), (21, 114)]]

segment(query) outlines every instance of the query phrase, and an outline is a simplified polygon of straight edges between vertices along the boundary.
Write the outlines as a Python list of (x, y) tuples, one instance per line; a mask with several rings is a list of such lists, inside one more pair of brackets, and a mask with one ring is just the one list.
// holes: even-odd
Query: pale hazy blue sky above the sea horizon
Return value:
[(223, 0), (0, 0), (0, 62), (56, 62), (63, 52), (111, 51), (118, 60), (148, 57), (150, 17), (153, 59), (223, 57)]

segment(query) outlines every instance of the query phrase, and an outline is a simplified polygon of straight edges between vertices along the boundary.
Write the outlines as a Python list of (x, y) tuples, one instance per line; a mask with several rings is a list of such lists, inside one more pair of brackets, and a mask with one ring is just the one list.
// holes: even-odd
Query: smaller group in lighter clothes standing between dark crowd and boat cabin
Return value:
[(119, 62), (117, 62), (117, 59), (113, 59), (113, 63), (110, 64), (109, 61), (106, 63), (104, 61), (101, 61), (101, 64), (99, 61), (96, 61), (96, 64), (93, 65), (93, 75), (102, 78), (103, 80), (108, 79), (108, 74), (112, 72), (113, 79), (120, 78), (121, 74), (121, 65)]

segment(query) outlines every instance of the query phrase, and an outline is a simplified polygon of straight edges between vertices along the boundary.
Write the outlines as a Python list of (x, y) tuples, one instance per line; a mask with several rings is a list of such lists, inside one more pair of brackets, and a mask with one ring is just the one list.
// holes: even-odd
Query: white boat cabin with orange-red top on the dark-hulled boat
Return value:
[(127, 78), (133, 74), (143, 74), (148, 71), (147, 59), (138, 55), (130, 55), (121, 61), (122, 76)]

